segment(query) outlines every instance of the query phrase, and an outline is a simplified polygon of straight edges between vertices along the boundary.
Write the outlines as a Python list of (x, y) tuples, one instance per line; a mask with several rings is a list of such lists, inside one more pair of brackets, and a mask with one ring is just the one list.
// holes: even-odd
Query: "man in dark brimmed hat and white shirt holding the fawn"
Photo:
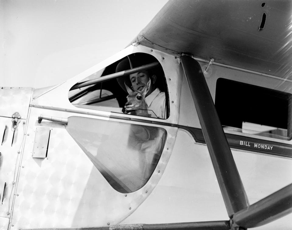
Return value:
[[(143, 55), (143, 56), (142, 56)], [(146, 65), (152, 62), (157, 62), (157, 60), (151, 55), (145, 56), (146, 54), (135, 54), (131, 58), (123, 59), (116, 67), (116, 72), (120, 72), (127, 69), (132, 69), (141, 65)], [(130, 62), (129, 62), (130, 61)], [(165, 92), (162, 92), (157, 86), (157, 73), (159, 73), (158, 68), (147, 69), (137, 73), (130, 74), (125, 84), (130, 86), (134, 91), (143, 90), (147, 86), (149, 79), (151, 79), (149, 90), (145, 97), (145, 102), (147, 105), (147, 112), (150, 117), (155, 118), (166, 118), (166, 107), (165, 107)], [(122, 86), (121, 80), (118, 80), (119, 84)], [(122, 86), (123, 88), (125, 86)], [(124, 113), (128, 113), (127, 108), (123, 110)]]

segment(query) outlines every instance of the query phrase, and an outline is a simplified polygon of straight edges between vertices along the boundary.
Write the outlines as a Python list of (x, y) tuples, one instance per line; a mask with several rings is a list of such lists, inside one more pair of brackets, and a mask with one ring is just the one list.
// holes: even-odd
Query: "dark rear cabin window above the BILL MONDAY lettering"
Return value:
[(215, 107), (225, 129), (291, 140), (292, 94), (219, 78)]

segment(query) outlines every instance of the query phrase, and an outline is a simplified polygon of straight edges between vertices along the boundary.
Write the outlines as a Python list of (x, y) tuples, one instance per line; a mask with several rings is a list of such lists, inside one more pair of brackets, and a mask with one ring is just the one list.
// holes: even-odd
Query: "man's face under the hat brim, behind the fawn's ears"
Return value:
[[(130, 74), (130, 81), (131, 81), (133, 90), (134, 91), (136, 91), (136, 90), (141, 91), (141, 89), (143, 89), (147, 85), (149, 78), (150, 78), (150, 75), (149, 75), (148, 71), (141, 71), (138, 73)], [(151, 79), (150, 90), (148, 91), (146, 96), (151, 94), (152, 91), (153, 91), (153, 83), (152, 83), (152, 79)]]

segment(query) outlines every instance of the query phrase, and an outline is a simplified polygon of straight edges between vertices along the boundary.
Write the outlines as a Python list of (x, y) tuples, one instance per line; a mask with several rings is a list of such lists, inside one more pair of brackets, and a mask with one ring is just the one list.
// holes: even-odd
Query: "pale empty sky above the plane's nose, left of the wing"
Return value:
[(0, 0), (0, 86), (63, 82), (122, 50), (167, 0)]

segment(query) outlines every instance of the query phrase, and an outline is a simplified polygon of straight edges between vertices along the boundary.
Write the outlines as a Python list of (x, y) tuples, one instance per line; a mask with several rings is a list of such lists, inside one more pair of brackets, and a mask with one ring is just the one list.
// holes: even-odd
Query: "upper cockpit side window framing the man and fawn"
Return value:
[(165, 75), (149, 54), (128, 55), (78, 82), (69, 101), (79, 108), (166, 119), (169, 114)]

